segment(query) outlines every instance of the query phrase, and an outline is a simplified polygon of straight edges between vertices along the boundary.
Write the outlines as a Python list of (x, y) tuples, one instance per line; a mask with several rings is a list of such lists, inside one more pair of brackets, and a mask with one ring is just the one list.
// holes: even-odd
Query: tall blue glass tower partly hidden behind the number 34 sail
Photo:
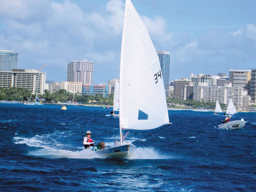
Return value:
[(170, 81), (170, 74), (171, 74), (170, 53), (166, 52), (166, 51), (157, 51), (156, 53), (159, 57), (160, 66), (161, 66), (161, 70), (162, 70), (165, 95), (168, 96), (169, 95), (169, 81)]

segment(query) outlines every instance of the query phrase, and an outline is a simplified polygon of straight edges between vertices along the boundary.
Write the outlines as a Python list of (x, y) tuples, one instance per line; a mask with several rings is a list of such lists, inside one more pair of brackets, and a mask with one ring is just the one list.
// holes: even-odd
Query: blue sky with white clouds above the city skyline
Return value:
[[(0, 50), (20, 69), (67, 81), (67, 63), (94, 62), (93, 84), (119, 79), (124, 0), (0, 0)], [(132, 0), (170, 80), (256, 68), (256, 1)]]

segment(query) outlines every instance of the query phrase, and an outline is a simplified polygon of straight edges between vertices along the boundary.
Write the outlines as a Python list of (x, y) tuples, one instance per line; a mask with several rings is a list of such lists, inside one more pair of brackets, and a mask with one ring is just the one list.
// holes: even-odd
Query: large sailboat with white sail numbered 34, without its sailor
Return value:
[(133, 153), (136, 141), (126, 143), (124, 129), (150, 130), (170, 124), (159, 58), (130, 0), (125, 1), (119, 76), (120, 141), (95, 151), (105, 157)]

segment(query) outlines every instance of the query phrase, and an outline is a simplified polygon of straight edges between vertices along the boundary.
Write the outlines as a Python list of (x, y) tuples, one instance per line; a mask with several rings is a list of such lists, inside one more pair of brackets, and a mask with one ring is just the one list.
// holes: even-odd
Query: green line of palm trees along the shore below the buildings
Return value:
[[(28, 101), (32, 91), (27, 88), (0, 87), (0, 100), (7, 101)], [(45, 103), (58, 103), (73, 101), (73, 93), (68, 92), (65, 89), (61, 89), (58, 92), (50, 93), (48, 90), (44, 90), (44, 94), (37, 94), (39, 99), (44, 99)], [(35, 95), (32, 95), (32, 100), (35, 100)], [(103, 97), (101, 94), (97, 95), (84, 95), (75, 93), (74, 101), (78, 103), (90, 104), (92, 100), (95, 100), (99, 105), (113, 105), (114, 94), (109, 94), (107, 97)], [(179, 98), (166, 97), (168, 108), (209, 108), (215, 109), (216, 102), (211, 101), (197, 101), (197, 100), (181, 100)], [(227, 105), (220, 103), (222, 109), (227, 108)], [(256, 105), (252, 105), (251, 108), (256, 108)]]

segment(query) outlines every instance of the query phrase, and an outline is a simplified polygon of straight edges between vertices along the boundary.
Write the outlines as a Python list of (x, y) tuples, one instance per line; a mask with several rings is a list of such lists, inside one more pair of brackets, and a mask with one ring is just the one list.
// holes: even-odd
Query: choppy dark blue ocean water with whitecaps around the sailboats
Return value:
[[(91, 130), (113, 146), (112, 108), (60, 108), (0, 103), (0, 191), (255, 191), (256, 113), (231, 118), (244, 118), (243, 129), (218, 130), (223, 116), (168, 110), (170, 126), (138, 141), (132, 156), (112, 159), (82, 143)], [(130, 130), (126, 140), (154, 131)]]

